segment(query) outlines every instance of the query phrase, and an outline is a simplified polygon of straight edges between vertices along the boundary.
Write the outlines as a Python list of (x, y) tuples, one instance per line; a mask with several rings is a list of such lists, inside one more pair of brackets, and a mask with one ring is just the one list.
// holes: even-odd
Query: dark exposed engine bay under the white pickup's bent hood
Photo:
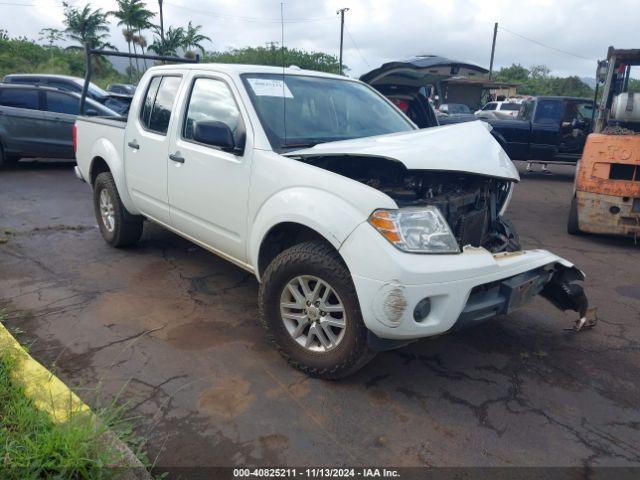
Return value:
[(400, 162), (371, 156), (314, 156), (299, 160), (380, 190), (399, 207), (433, 205), (444, 215), (458, 245), (510, 252), (518, 234), (499, 215), (511, 182), (461, 172), (407, 170)]

